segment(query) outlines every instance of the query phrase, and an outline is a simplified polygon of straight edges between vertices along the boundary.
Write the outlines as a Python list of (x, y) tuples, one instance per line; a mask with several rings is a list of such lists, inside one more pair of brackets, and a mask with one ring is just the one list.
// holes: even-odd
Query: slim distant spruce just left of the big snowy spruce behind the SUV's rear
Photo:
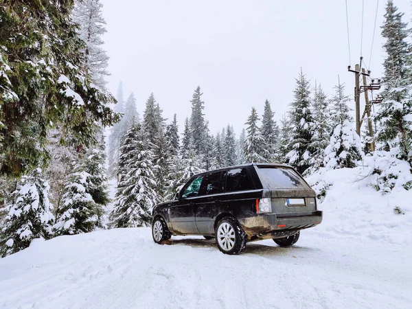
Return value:
[(275, 112), (272, 111), (271, 103), (266, 99), (264, 102), (264, 113), (262, 116), (262, 126), (260, 126), (260, 134), (264, 139), (264, 154), (265, 161), (272, 162), (276, 157), (277, 141), (279, 137), (279, 127), (273, 119)]

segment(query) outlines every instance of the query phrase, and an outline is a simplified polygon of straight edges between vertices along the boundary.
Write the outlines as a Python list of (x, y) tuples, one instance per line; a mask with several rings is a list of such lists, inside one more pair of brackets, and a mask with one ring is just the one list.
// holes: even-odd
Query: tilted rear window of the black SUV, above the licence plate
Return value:
[(294, 189), (297, 187), (308, 187), (294, 170), (290, 168), (259, 168), (262, 181), (273, 189)]

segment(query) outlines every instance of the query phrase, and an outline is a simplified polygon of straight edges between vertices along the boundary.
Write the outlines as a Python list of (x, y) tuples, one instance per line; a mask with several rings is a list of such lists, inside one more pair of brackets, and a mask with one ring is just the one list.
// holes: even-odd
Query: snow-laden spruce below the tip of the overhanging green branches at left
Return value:
[(108, 204), (104, 150), (91, 148), (76, 160), (65, 187), (61, 206), (56, 209), (56, 233), (88, 233), (102, 227), (104, 207)]

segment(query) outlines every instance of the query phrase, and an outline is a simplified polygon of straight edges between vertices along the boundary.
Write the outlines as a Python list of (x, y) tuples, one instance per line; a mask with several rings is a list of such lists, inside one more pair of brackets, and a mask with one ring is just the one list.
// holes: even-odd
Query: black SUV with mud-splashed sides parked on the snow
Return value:
[(192, 176), (174, 201), (152, 214), (153, 240), (172, 235), (216, 238), (220, 251), (238, 254), (246, 242), (295, 244), (299, 231), (319, 225), (316, 194), (288, 165), (250, 163)]

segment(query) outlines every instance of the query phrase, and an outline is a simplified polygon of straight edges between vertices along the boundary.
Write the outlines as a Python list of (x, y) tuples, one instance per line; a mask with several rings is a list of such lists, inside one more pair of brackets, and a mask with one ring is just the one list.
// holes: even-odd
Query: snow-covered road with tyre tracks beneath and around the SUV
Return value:
[[(365, 242), (366, 241), (366, 242)], [(412, 249), (303, 231), (223, 255), (150, 229), (37, 241), (0, 260), (0, 308), (411, 308)]]

